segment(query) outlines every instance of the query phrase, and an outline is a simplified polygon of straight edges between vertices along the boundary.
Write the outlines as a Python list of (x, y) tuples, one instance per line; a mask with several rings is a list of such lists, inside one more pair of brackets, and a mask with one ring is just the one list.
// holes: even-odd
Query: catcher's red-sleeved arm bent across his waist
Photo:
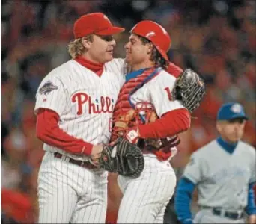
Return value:
[(190, 127), (190, 114), (184, 108), (169, 111), (156, 122), (139, 125), (138, 131), (141, 138), (164, 138), (174, 136), (186, 131)]

